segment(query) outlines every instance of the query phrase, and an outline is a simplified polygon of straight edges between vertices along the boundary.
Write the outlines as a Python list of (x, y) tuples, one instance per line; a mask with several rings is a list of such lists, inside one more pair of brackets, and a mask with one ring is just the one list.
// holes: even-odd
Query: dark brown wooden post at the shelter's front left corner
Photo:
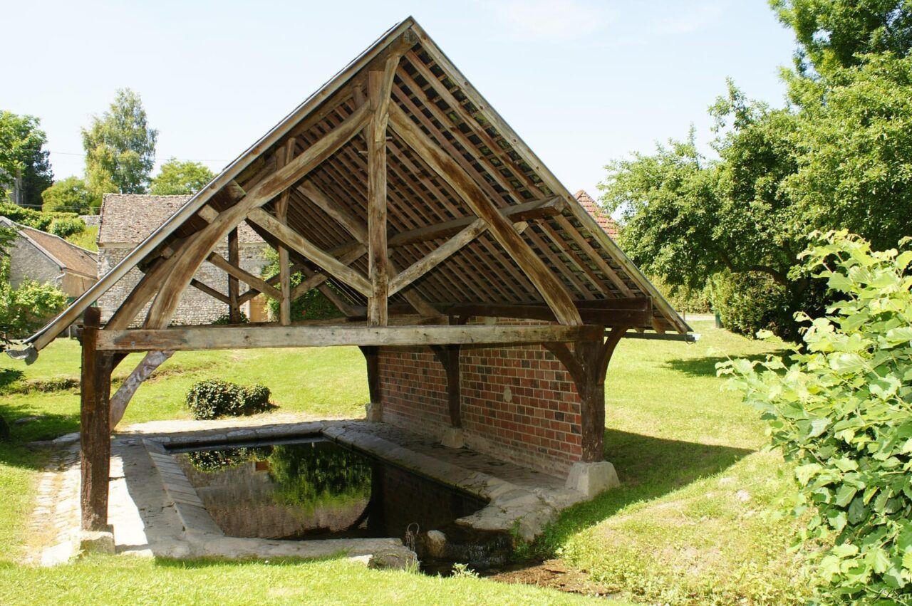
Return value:
[(112, 355), (98, 352), (101, 313), (89, 307), (83, 315), (81, 406), (79, 415), (83, 530), (109, 530), (110, 388)]

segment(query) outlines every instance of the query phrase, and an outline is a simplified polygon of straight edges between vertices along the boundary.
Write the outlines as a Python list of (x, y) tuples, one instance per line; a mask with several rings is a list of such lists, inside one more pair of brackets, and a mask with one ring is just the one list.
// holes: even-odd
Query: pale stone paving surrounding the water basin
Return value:
[[(315, 421), (272, 414), (217, 421), (156, 421), (120, 430), (111, 445), (109, 523), (115, 550), (170, 558), (314, 558), (347, 553), (365, 563), (403, 566), (414, 554), (399, 539), (268, 540), (224, 536), (209, 517), (165, 446), (224, 443), (322, 434), (425, 477), (489, 501), (457, 520), (472, 529), (517, 531), (533, 539), (557, 512), (586, 496), (562, 478), (519, 467), (467, 448), (447, 448), (384, 423), (350, 419)], [(58, 438), (57, 456), (41, 477), (29, 561), (53, 565), (78, 551), (78, 435)]]

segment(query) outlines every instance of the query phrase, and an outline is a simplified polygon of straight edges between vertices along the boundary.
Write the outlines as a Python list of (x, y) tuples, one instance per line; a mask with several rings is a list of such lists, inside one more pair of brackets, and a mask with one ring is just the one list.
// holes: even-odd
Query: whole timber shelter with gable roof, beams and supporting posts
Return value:
[[(243, 221), (277, 250), (275, 277), (240, 267)], [(227, 259), (213, 252), (224, 241)], [(194, 278), (203, 262), (227, 273), (227, 295)], [(134, 267), (143, 277), (100, 327), (92, 303)], [(171, 327), (191, 286), (225, 304), (233, 324)], [(312, 289), (337, 307), (338, 320), (293, 321), (291, 303)], [(240, 305), (258, 293), (279, 301), (277, 322), (240, 324)], [(86, 529), (107, 524), (108, 432), (136, 387), (175, 351), (358, 345), (379, 405), (378, 348), (430, 346), (446, 369), (458, 428), (461, 348), (543, 344), (574, 377), (584, 402), (583, 458), (597, 461), (606, 367), (619, 339), (627, 331), (689, 332), (410, 17), (235, 159), (20, 354), (34, 358), (80, 317)], [(130, 352), (149, 354), (109, 401), (111, 370)]]

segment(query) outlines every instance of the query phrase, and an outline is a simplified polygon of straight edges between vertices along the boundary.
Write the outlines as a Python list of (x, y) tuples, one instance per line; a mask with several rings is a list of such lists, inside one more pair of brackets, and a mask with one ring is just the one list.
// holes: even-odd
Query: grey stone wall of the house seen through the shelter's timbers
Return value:
[[(241, 244), (241, 267), (247, 272), (254, 275), (260, 275), (264, 265), (267, 264), (264, 252), (266, 245), (263, 243), (242, 243)], [(129, 247), (101, 246), (98, 248), (98, 276), (109, 272), (111, 268), (117, 265), (130, 252)], [(223, 257), (228, 257), (228, 247), (216, 248)], [(101, 322), (108, 322), (111, 315), (117, 310), (120, 303), (130, 294), (137, 282), (140, 282), (142, 273), (138, 269), (132, 269), (130, 272), (119, 280), (107, 293), (104, 293), (98, 299), (98, 307), (101, 310)], [(228, 274), (218, 269), (212, 263), (203, 262), (202, 267), (195, 274), (195, 278), (204, 284), (211, 286), (213, 289), (228, 294)], [(241, 282), (241, 293), (247, 290), (247, 284)], [(149, 304), (143, 308), (142, 312), (137, 315), (134, 325), (140, 324), (146, 316)], [(192, 286), (184, 291), (181, 297), (181, 304), (178, 305), (177, 313), (171, 324), (210, 324), (220, 316), (228, 313), (228, 306), (225, 303), (216, 301), (206, 293), (202, 293)], [(250, 316), (249, 307), (244, 310), (247, 316)]]

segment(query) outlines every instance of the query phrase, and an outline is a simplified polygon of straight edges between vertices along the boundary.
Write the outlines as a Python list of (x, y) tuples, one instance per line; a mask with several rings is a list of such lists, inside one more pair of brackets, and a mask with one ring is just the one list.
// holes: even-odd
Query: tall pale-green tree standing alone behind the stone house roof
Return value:
[(82, 129), (86, 180), (94, 202), (108, 192), (145, 193), (158, 131), (149, 128), (140, 95), (122, 88), (110, 108)]

